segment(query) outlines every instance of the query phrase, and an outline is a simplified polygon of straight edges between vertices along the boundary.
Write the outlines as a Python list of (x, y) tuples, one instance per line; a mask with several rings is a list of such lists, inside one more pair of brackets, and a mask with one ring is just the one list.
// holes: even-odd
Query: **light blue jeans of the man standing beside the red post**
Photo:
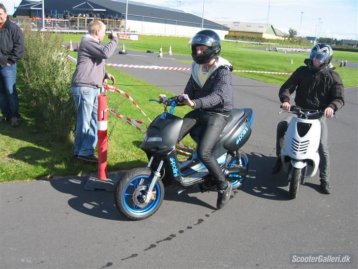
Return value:
[(71, 87), (71, 95), (77, 107), (75, 150), (77, 155), (93, 155), (97, 144), (97, 109), (99, 89)]

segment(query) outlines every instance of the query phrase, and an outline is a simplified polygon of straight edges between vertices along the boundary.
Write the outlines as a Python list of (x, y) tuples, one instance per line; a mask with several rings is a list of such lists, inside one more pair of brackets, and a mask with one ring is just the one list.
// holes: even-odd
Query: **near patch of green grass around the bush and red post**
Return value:
[[(163, 111), (162, 105), (148, 100), (156, 99), (160, 93), (171, 96), (169, 92), (114, 68), (107, 67), (106, 70), (116, 77), (116, 81), (119, 81), (115, 86), (128, 92), (151, 120)], [(25, 85), (21, 84), (19, 76), (17, 87), (21, 101), (21, 88)], [(124, 116), (144, 121), (144, 126), (140, 127), (147, 129), (149, 120), (129, 100), (117, 92), (107, 92), (107, 95), (109, 108)], [(189, 110), (189, 107), (179, 107), (176, 114), (183, 116)], [(48, 140), (46, 132), (41, 127), (37, 111), (24, 102), (20, 103), (20, 111), (23, 119), (19, 127), (12, 128), (8, 122), (0, 124), (0, 182), (51, 178), (58, 175), (81, 175), (97, 171), (96, 165), (88, 165), (73, 158), (73, 143), (63, 144)], [(139, 149), (143, 135), (110, 114), (108, 171), (125, 170), (145, 166), (148, 163), (146, 155)], [(189, 138), (185, 138), (183, 142), (195, 146)]]

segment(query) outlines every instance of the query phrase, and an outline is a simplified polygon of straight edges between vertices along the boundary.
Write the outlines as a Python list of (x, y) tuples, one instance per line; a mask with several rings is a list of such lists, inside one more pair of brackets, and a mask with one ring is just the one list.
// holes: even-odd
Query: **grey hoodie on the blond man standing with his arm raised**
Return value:
[(72, 76), (71, 87), (101, 88), (106, 75), (104, 59), (113, 55), (117, 45), (117, 36), (105, 46), (90, 34), (83, 36), (78, 48), (77, 66)]

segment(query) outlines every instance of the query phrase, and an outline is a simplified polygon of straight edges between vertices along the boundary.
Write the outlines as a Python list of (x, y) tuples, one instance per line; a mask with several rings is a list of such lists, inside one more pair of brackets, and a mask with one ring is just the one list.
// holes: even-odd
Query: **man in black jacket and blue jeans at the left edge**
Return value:
[(21, 29), (7, 17), (0, 3), (0, 123), (20, 125), (19, 98), (16, 91), (16, 63), (24, 55), (25, 42)]

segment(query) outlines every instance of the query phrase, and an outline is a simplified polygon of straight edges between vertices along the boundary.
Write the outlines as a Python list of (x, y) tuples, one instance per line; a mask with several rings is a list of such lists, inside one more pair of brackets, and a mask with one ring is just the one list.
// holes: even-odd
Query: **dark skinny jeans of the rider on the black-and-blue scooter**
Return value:
[(228, 183), (224, 173), (221, 171), (216, 159), (212, 156), (212, 148), (218, 140), (219, 135), (227, 124), (227, 118), (221, 114), (196, 109), (187, 113), (183, 118), (183, 125), (179, 134), (179, 141), (197, 126), (202, 126), (200, 143), (197, 153), (200, 160), (212, 175), (216, 187), (219, 190), (226, 189)]

